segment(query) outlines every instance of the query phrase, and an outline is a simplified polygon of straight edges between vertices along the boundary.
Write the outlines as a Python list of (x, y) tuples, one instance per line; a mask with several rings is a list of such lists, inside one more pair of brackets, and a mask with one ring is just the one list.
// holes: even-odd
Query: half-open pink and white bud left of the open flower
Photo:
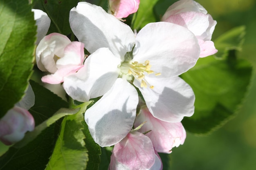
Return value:
[(36, 48), (36, 64), (41, 71), (52, 74), (42, 77), (42, 82), (59, 84), (63, 77), (83, 67), (83, 43), (71, 42), (65, 35), (46, 35)]

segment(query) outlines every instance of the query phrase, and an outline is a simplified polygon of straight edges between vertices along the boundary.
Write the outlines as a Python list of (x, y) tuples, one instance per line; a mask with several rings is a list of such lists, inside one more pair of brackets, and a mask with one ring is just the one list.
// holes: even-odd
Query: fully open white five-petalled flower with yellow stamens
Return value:
[(188, 29), (150, 23), (135, 37), (128, 25), (87, 2), (71, 9), (70, 26), (92, 54), (77, 73), (64, 77), (63, 87), (80, 102), (103, 95), (85, 112), (90, 133), (100, 146), (117, 144), (132, 129), (138, 94), (130, 83), (139, 89), (154, 117), (178, 122), (193, 115), (194, 93), (177, 77), (195, 65), (200, 53)]

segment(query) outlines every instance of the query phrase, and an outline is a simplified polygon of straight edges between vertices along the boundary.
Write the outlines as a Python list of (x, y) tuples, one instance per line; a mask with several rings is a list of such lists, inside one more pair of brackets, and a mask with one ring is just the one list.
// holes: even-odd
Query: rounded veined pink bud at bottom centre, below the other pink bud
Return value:
[(116, 161), (130, 170), (146, 170), (155, 163), (155, 151), (148, 137), (130, 132), (112, 151)]

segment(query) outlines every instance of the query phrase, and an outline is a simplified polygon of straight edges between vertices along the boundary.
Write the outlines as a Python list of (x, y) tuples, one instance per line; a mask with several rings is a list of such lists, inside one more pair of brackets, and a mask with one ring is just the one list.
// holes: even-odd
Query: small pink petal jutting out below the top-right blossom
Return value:
[(213, 55), (218, 52), (216, 50), (214, 43), (212, 41), (203, 41), (203, 40), (198, 40), (199, 45), (200, 45), (200, 57), (207, 57), (209, 55)]

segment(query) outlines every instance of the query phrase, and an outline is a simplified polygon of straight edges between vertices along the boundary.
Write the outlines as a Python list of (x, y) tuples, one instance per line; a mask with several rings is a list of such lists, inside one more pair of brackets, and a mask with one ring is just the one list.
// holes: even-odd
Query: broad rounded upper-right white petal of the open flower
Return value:
[(191, 31), (177, 24), (156, 22), (137, 34), (132, 61), (149, 60), (155, 73), (173, 77), (193, 67), (199, 55), (198, 40)]

